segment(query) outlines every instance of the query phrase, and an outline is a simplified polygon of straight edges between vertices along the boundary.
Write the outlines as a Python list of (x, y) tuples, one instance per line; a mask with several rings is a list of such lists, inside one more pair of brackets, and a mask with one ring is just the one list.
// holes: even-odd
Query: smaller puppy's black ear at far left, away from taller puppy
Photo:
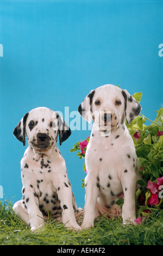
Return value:
[(23, 146), (26, 145), (26, 121), (28, 114), (24, 114), (24, 117), (21, 119), (21, 121), (18, 123), (18, 125), (15, 127), (13, 134), (18, 139), (18, 141), (23, 143)]

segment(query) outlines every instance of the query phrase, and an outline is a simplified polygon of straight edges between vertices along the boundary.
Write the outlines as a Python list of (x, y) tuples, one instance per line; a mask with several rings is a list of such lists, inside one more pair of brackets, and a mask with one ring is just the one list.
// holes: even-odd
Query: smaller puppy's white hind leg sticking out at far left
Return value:
[(23, 209), (22, 206), (22, 200), (16, 202), (13, 206), (13, 210), (15, 212), (15, 214), (17, 215), (17, 217), (26, 223), (27, 226), (29, 226), (30, 224), (30, 220), (29, 220), (29, 215), (28, 213)]

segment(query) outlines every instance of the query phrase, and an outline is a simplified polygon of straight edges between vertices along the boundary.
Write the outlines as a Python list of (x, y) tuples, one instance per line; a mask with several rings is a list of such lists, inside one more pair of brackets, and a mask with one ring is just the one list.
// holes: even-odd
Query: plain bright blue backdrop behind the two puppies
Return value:
[[(162, 1), (2, 1), (0, 3), (0, 185), (3, 199), (21, 199), (25, 148), (12, 135), (39, 106), (76, 111), (91, 89), (106, 83), (142, 92), (142, 113), (155, 119), (163, 103)], [(70, 118), (70, 121), (73, 118)], [(82, 118), (81, 118), (82, 121)], [(84, 160), (69, 153), (90, 131), (72, 131), (61, 147), (77, 205)]]

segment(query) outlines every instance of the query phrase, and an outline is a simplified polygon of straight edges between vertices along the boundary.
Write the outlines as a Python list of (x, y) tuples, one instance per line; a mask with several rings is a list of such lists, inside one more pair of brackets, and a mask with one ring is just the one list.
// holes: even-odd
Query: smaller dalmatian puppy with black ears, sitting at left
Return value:
[(21, 160), (23, 198), (13, 206), (15, 214), (31, 230), (41, 227), (48, 217), (62, 221), (65, 227), (80, 230), (77, 209), (65, 160), (57, 147), (71, 135), (61, 116), (49, 108), (38, 107), (25, 114), (14, 129), (14, 136), (29, 147)]

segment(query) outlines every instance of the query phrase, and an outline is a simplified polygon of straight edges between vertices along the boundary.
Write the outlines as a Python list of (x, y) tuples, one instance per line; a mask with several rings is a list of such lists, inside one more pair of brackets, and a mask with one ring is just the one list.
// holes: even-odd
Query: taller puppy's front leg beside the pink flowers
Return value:
[(122, 218), (123, 224), (133, 223), (136, 220), (135, 212), (135, 190), (136, 190), (136, 174), (124, 173), (122, 180), (123, 194), (124, 194), (124, 204), (122, 206)]

